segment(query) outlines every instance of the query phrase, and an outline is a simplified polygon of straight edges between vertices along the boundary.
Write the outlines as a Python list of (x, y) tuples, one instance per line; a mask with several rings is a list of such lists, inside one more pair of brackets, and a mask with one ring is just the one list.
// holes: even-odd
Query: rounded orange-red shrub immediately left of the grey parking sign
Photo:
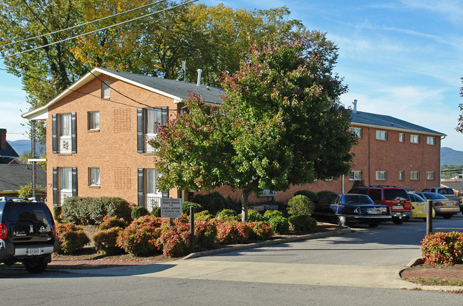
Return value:
[(149, 256), (157, 253), (156, 241), (167, 222), (150, 215), (135, 219), (117, 238), (117, 245), (132, 256)]

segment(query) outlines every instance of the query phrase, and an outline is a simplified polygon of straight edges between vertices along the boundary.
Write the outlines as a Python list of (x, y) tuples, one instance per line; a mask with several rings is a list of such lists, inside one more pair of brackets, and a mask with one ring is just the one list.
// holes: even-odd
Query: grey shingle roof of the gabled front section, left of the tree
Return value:
[(206, 102), (222, 102), (221, 95), (225, 91), (221, 88), (214, 88), (206, 85), (196, 85), (194, 83), (185, 83), (179, 80), (170, 80), (165, 78), (156, 78), (149, 75), (140, 75), (136, 73), (126, 73), (117, 70), (100, 68), (101, 70), (117, 75), (119, 78), (131, 80), (132, 82), (145, 85), (155, 90), (160, 90), (170, 95), (180, 97), (182, 100), (187, 100), (190, 93), (197, 93), (202, 95)]

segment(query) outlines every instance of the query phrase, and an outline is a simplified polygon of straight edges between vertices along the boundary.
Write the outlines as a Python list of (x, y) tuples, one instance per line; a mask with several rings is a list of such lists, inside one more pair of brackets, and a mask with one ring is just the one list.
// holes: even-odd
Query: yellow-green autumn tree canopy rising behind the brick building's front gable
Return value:
[[(285, 7), (246, 11), (223, 4), (189, 4), (169, 9), (175, 2), (164, 1), (113, 16), (152, 3), (147, 0), (36, 0), (26, 5), (26, 1), (21, 0), (1, 1), (1, 56), (152, 14), (5, 58), (9, 73), (22, 80), (30, 109), (45, 105), (95, 66), (183, 80), (181, 63), (186, 60), (188, 82), (196, 81), (196, 71), (201, 68), (202, 83), (217, 86), (223, 71), (234, 73), (239, 69), (240, 60), (246, 58), (251, 43), (281, 41), (304, 31), (300, 21), (288, 19), (289, 11)], [(160, 13), (154, 14), (156, 12)], [(89, 23), (108, 16), (113, 17)], [(83, 26), (67, 29), (78, 25)], [(55, 31), (59, 32), (45, 35)], [(23, 41), (36, 36), (40, 37)], [(38, 135), (45, 139), (43, 126), (38, 127)]]

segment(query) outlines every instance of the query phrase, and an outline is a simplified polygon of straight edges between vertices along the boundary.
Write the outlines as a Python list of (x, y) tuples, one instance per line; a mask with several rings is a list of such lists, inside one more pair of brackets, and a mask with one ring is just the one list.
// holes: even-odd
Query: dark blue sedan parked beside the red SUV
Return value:
[(375, 204), (365, 194), (326, 194), (318, 199), (312, 216), (342, 226), (347, 223), (366, 223), (376, 227), (391, 219), (389, 207)]

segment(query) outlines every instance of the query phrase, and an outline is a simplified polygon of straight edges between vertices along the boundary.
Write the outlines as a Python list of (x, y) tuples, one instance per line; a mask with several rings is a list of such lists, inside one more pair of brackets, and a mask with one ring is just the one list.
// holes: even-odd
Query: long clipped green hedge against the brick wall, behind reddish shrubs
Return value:
[(105, 216), (130, 221), (132, 205), (120, 198), (71, 196), (63, 204), (63, 218), (74, 224), (99, 224)]

